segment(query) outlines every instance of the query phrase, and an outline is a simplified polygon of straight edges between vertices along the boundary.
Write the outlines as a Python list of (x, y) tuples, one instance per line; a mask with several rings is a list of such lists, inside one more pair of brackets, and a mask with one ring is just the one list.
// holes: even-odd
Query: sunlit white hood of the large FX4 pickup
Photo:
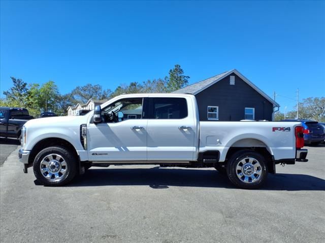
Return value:
[(81, 116), (54, 116), (54, 117), (43, 117), (28, 120), (25, 123), (26, 128), (38, 128), (38, 127), (75, 127), (81, 124), (87, 123), (88, 115)]

